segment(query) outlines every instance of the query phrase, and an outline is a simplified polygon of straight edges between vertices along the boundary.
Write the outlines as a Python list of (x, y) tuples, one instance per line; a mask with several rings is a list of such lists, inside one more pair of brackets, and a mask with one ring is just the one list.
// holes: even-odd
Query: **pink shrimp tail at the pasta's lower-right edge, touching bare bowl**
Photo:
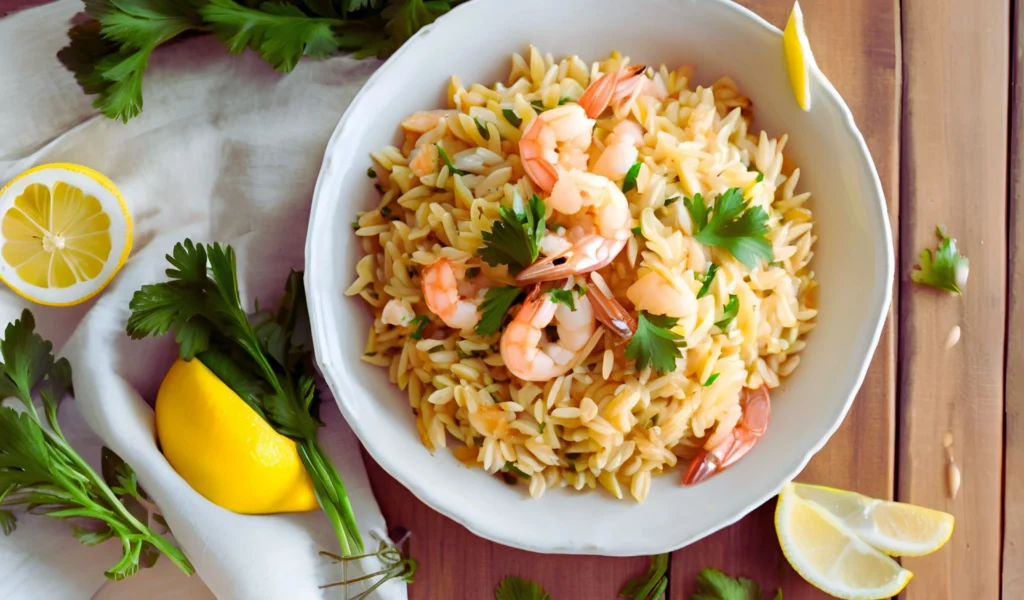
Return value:
[(690, 463), (683, 476), (683, 485), (699, 483), (719, 471), (724, 471), (743, 458), (757, 444), (771, 422), (771, 403), (768, 387), (743, 388), (739, 405), (743, 411), (739, 423), (712, 448), (705, 448)]

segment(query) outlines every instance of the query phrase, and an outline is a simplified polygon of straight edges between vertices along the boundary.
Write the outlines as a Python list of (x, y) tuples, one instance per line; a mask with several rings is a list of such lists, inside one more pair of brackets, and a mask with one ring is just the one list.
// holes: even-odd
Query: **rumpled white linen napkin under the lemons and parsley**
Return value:
[[(35, 165), (83, 164), (115, 181), (135, 223), (131, 257), (97, 299), (73, 308), (30, 306), (41, 333), (74, 368), (77, 399), (62, 409), (66, 430), (94, 464), (102, 443), (135, 469), (216, 597), (343, 598), (317, 588), (345, 578), (341, 566), (317, 555), (337, 550), (322, 513), (231, 513), (195, 492), (164, 460), (147, 400), (175, 345), (170, 338), (131, 341), (124, 332), (132, 293), (166, 278), (164, 255), (186, 237), (234, 247), (247, 308), (257, 297), (263, 305), (276, 302), (289, 269), (302, 267), (328, 138), (378, 63), (304, 60), (283, 76), (251, 52), (231, 56), (211, 37), (196, 38), (157, 52), (144, 79), (144, 111), (125, 125), (97, 116), (55, 58), (80, 9), (79, 0), (60, 0), (0, 20), (4, 46), (16, 48), (0, 65), (0, 182)], [(4, 289), (0, 320), (15, 318), (26, 305)], [(322, 413), (328, 424), (322, 443), (345, 481), (367, 548), (376, 549), (374, 535), (385, 534), (385, 523), (358, 442), (330, 395)], [(11, 538), (0, 538), (0, 598), (88, 598), (118, 552), (116, 542), (84, 548), (67, 523), (26, 517)], [(154, 587), (134, 597), (176, 596), (168, 587), (183, 577), (169, 568), (163, 564), (159, 576), (148, 577)], [(376, 559), (365, 559), (347, 575), (378, 568)], [(95, 597), (130, 597), (129, 582)], [(188, 591), (179, 597), (207, 594), (196, 582), (180, 589)], [(406, 587), (389, 582), (376, 597), (404, 599)]]

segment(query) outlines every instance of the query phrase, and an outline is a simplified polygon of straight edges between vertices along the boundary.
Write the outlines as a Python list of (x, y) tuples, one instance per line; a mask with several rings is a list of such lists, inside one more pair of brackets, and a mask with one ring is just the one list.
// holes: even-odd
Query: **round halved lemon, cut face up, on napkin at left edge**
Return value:
[(131, 251), (131, 216), (121, 192), (81, 165), (22, 173), (0, 189), (0, 280), (38, 304), (88, 300)]

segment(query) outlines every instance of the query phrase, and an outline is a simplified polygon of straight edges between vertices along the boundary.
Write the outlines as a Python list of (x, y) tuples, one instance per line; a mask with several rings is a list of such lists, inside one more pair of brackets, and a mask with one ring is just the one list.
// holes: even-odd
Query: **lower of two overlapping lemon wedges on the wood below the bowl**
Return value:
[(778, 495), (775, 531), (793, 568), (837, 598), (877, 600), (899, 594), (913, 573), (871, 548), (790, 483)]

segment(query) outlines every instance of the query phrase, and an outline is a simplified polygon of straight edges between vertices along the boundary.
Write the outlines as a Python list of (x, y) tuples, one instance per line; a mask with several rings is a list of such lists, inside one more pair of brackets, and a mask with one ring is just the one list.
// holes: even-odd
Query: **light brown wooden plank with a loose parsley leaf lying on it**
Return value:
[[(898, 498), (952, 513), (942, 551), (903, 564), (906, 600), (999, 597), (1010, 0), (903, 0)], [(912, 67), (911, 67), (912, 66)], [(948, 225), (971, 259), (963, 298), (913, 285)], [(954, 326), (957, 345), (946, 349)], [(947, 495), (943, 437), (963, 473)], [(1007, 598), (1020, 597), (1020, 591)]]

